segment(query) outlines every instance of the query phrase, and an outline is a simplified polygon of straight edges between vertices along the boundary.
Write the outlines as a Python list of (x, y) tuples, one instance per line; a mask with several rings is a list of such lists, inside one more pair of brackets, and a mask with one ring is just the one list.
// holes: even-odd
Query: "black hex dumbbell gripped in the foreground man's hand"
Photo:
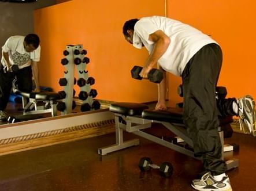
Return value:
[[(142, 71), (142, 69), (143, 67), (134, 66), (131, 70), (132, 78), (141, 80), (142, 77), (140, 77), (139, 73), (140, 71)], [(161, 70), (153, 68), (149, 71), (147, 78), (149, 79), (150, 82), (160, 83), (164, 78), (164, 74)]]

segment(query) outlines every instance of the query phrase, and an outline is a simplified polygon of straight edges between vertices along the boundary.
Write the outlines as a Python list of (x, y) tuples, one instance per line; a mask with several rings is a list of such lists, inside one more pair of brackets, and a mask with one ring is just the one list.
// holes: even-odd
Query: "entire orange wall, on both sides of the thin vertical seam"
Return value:
[[(61, 1), (61, 0), (60, 0)], [(167, 16), (186, 22), (209, 34), (220, 43), (224, 55), (218, 85), (226, 86), (228, 97), (251, 94), (254, 89), (254, 8), (245, 1), (167, 1)], [(58, 2), (58, 0), (57, 0)], [(135, 6), (136, 5), (136, 6)], [(133, 65), (143, 65), (147, 51), (124, 41), (121, 29), (129, 18), (164, 16), (164, 0), (97, 1), (73, 0), (35, 11), (35, 32), (42, 39), (40, 81), (43, 86), (62, 90), (60, 64), (66, 44), (83, 44), (91, 63), (89, 74), (98, 97), (109, 101), (146, 102), (157, 100), (157, 86), (131, 79)], [(244, 68), (242, 68), (244, 67)], [(179, 77), (169, 74), (169, 105), (182, 101), (177, 95)], [(76, 92), (79, 90), (76, 88)]]

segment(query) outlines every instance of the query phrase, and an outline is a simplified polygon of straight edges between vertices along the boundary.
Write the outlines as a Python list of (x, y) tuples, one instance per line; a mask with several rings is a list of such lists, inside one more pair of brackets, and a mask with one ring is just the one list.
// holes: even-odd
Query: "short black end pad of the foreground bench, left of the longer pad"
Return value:
[(123, 114), (125, 116), (141, 115), (144, 109), (149, 109), (149, 107), (145, 104), (127, 102), (111, 104), (109, 107), (110, 112)]

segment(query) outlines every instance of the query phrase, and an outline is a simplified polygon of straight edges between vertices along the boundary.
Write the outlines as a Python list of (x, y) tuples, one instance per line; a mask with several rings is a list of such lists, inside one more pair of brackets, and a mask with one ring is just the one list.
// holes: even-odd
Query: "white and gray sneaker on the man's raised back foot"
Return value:
[(247, 125), (248, 131), (253, 136), (256, 136), (255, 102), (253, 97), (247, 95), (238, 99), (238, 115)]

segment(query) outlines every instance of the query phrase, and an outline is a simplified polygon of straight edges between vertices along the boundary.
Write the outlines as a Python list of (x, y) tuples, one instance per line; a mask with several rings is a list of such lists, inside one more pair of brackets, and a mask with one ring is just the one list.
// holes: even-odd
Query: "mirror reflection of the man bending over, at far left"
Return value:
[(13, 79), (17, 79), (17, 87), (24, 92), (31, 92), (34, 78), (35, 89), (39, 89), (40, 39), (36, 34), (27, 36), (11, 36), (2, 47), (0, 64), (0, 121), (7, 119), (3, 112), (9, 101)]

